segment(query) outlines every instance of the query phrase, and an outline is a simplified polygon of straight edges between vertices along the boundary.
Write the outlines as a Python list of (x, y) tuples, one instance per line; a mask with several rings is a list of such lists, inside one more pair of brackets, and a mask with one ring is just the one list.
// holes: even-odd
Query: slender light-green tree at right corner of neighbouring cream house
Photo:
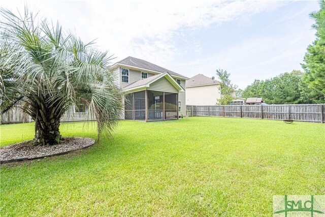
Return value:
[(229, 102), (234, 99), (233, 94), (237, 89), (237, 85), (233, 85), (230, 80), (230, 73), (226, 70), (217, 69), (216, 75), (219, 77), (220, 81), (220, 94), (221, 99), (217, 101), (219, 105), (229, 105)]

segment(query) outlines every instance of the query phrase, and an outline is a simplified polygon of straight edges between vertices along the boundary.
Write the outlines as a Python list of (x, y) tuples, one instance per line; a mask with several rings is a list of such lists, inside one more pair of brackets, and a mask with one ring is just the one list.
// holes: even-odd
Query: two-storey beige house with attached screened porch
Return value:
[(187, 77), (132, 56), (112, 69), (124, 94), (124, 119), (172, 120), (186, 114)]

